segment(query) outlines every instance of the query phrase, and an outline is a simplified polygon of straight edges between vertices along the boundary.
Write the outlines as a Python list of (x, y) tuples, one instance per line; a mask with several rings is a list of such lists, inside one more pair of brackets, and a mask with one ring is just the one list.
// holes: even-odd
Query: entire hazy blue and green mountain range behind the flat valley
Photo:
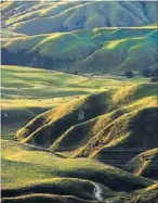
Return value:
[(2, 64), (87, 73), (157, 66), (157, 2), (2, 3)]

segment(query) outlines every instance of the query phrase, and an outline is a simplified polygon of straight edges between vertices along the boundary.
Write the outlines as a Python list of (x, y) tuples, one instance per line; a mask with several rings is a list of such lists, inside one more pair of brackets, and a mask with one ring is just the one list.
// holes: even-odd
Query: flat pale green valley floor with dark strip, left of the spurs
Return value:
[(17, 129), (44, 111), (80, 96), (131, 85), (124, 77), (90, 78), (22, 66), (1, 66), (1, 76), (2, 137), (5, 139), (14, 139)]

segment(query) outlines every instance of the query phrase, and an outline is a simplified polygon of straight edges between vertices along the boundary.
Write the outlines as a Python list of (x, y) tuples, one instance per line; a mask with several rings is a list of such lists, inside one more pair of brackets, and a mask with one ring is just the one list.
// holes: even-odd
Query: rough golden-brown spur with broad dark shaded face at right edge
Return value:
[[(130, 161), (130, 158), (134, 157), (137, 153), (145, 149), (157, 147), (157, 110), (156, 106), (144, 107), (140, 111), (124, 113), (121, 116), (119, 116), (118, 112), (119, 117), (116, 117), (111, 123), (101, 128), (91, 140), (88, 140), (85, 145), (78, 150), (78, 154), (80, 154), (80, 156), (96, 156), (105, 163), (120, 167), (123, 166), (123, 163)], [(142, 118), (144, 120), (140, 124)], [(145, 128), (145, 122), (148, 122), (150, 131)], [(128, 156), (124, 154), (124, 150), (129, 148), (135, 150), (133, 150), (133, 152), (127, 152), (130, 154)], [(139, 149), (139, 151), (136, 149)], [(113, 156), (115, 158), (113, 158)]]

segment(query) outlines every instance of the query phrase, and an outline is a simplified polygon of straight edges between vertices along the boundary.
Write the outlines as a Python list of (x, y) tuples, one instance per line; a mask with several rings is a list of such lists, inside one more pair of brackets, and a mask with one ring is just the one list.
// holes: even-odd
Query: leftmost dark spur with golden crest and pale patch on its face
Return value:
[(23, 142), (49, 147), (69, 127), (103, 114), (107, 109), (108, 97), (108, 91), (91, 94), (43, 113), (18, 130), (16, 138)]

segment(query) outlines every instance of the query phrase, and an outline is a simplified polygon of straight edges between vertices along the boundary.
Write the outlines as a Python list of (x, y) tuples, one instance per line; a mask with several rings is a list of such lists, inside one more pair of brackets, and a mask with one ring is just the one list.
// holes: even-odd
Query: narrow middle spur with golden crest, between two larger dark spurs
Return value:
[[(147, 97), (132, 104), (124, 105), (122, 109), (111, 113), (98, 116), (82, 124), (75, 125), (65, 131), (51, 147), (55, 151), (67, 151), (69, 154), (77, 153), (79, 148), (83, 148), (92, 138), (103, 134), (104, 129), (115, 124), (117, 118), (129, 112), (141, 110), (143, 107), (152, 107), (157, 104), (157, 97)], [(100, 140), (100, 138), (98, 138)], [(94, 149), (93, 149), (94, 150)], [(95, 151), (95, 150), (94, 150)]]

